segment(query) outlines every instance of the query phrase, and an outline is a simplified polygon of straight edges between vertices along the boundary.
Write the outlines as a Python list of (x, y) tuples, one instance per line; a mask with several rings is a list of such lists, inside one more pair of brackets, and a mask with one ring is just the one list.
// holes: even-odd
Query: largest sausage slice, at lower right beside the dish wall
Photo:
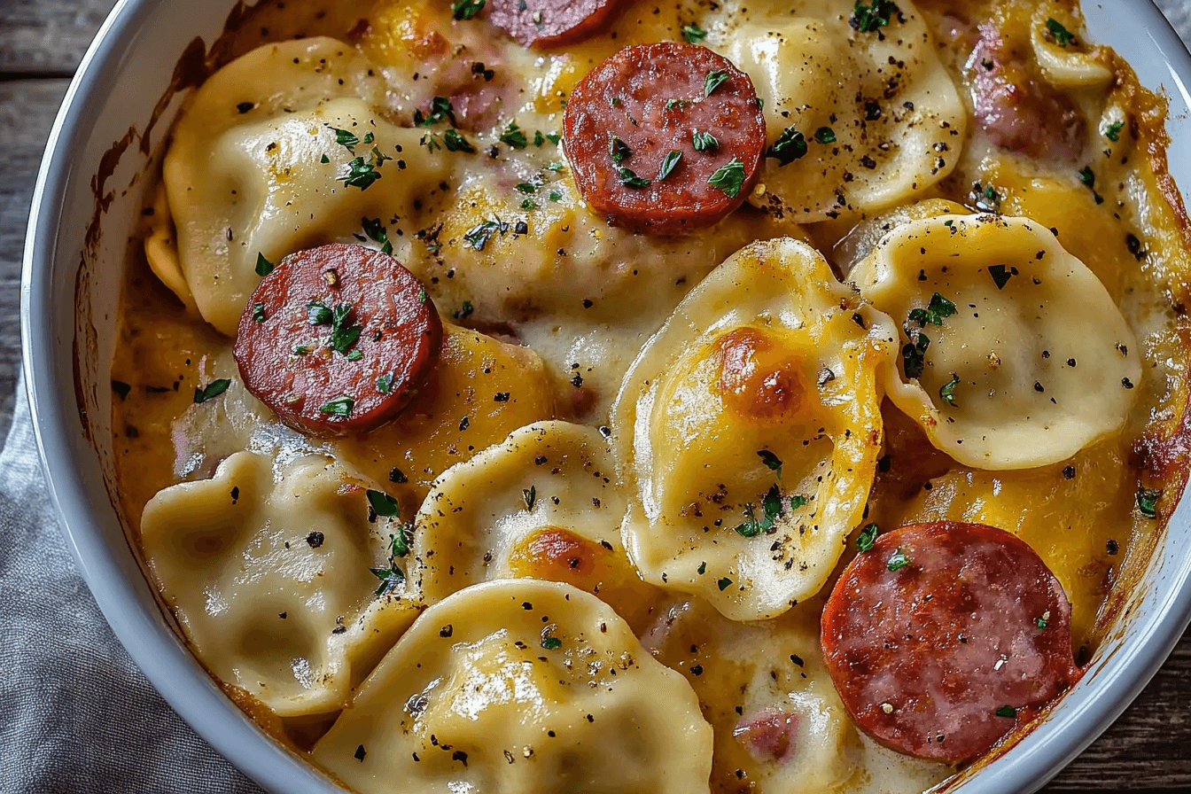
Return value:
[(1024, 542), (979, 524), (879, 536), (831, 592), (822, 642), (856, 724), (919, 758), (984, 755), (1078, 676), (1059, 581)]

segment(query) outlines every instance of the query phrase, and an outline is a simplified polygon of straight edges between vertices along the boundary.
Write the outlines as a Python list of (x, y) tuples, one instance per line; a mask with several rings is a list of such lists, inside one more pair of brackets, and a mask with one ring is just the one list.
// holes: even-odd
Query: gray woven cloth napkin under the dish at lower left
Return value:
[[(1156, 1), (1189, 40), (1191, 2)], [(104, 620), (50, 508), (23, 386), (0, 451), (0, 538), (6, 794), (261, 792), (166, 705)]]

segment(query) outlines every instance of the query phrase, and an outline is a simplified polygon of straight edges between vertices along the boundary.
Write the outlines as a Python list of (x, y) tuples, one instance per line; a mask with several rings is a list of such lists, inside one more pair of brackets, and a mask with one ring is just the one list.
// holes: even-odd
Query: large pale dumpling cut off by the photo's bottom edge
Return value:
[(711, 745), (690, 684), (607, 605), (525, 579), (428, 608), (311, 757), (360, 794), (691, 794)]

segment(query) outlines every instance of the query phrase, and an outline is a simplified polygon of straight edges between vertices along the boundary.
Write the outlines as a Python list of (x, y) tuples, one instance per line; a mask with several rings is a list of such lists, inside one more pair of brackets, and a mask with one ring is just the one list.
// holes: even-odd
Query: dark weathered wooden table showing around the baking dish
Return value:
[[(70, 76), (112, 5), (0, 0), (0, 437), (14, 399), (25, 399), (15, 394), (18, 314), (33, 181)], [(1191, 632), (1116, 725), (1046, 790), (1137, 788), (1191, 790)]]

